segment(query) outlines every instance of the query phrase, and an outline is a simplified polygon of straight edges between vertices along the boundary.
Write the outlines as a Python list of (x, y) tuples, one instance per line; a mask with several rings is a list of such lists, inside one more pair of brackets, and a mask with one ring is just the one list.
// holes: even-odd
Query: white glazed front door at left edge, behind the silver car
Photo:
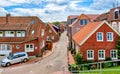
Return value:
[(0, 55), (9, 54), (12, 52), (12, 46), (8, 44), (0, 44)]

